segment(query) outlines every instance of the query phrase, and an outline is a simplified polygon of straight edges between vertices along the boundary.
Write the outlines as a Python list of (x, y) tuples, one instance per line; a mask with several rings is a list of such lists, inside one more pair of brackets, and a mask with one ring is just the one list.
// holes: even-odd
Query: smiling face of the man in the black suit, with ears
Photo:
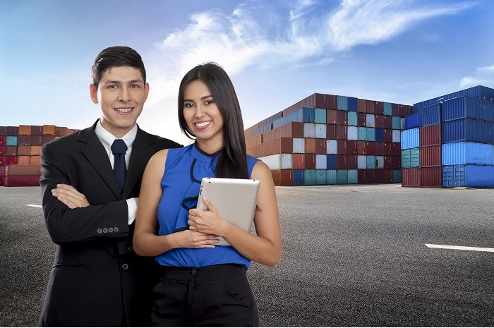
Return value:
[(90, 85), (92, 102), (100, 104), (101, 124), (116, 138), (134, 126), (149, 93), (138, 68), (116, 66), (105, 71), (97, 89)]

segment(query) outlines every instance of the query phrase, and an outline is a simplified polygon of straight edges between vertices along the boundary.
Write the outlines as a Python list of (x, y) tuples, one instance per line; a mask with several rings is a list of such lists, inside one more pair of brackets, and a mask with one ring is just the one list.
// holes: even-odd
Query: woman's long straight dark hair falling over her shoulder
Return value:
[(236, 97), (234, 85), (227, 72), (216, 63), (195, 66), (183, 76), (179, 87), (179, 123), (182, 132), (188, 138), (195, 137), (183, 117), (183, 90), (188, 83), (195, 80), (201, 80), (207, 85), (223, 117), (224, 149), (219, 155), (215, 168), (216, 176), (218, 178), (250, 178), (239, 99)]

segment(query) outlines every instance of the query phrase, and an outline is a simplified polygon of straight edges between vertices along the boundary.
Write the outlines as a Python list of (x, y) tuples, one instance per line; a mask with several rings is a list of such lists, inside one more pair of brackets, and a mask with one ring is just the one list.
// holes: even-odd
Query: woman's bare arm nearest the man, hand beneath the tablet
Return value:
[(140, 187), (133, 248), (142, 256), (161, 255), (174, 248), (211, 248), (215, 236), (184, 230), (166, 236), (157, 236), (158, 204), (162, 198), (161, 181), (168, 150), (153, 155), (147, 163)]

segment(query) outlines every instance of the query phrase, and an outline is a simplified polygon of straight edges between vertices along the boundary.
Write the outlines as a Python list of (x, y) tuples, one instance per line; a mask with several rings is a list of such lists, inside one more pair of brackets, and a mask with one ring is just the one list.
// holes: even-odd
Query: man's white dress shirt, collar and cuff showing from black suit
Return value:
[[(104, 150), (107, 151), (108, 158), (110, 160), (110, 164), (112, 164), (112, 169), (115, 163), (115, 155), (112, 153), (112, 144), (114, 140), (116, 139), (112, 133), (109, 133), (107, 130), (103, 128), (101, 125), (101, 121), (98, 121), (96, 124), (95, 128), (95, 133), (98, 139), (100, 139)], [(137, 124), (126, 133), (126, 135), (123, 135), (121, 138), (125, 144), (127, 145), (127, 152), (125, 153), (125, 164), (128, 169), (128, 161), (131, 158), (131, 153), (132, 153), (132, 144), (135, 140), (135, 136), (137, 135)], [(135, 202), (134, 198), (130, 198), (127, 200), (127, 207), (128, 207), (128, 225), (130, 226), (132, 222), (135, 220), (135, 215), (137, 214), (137, 202)]]

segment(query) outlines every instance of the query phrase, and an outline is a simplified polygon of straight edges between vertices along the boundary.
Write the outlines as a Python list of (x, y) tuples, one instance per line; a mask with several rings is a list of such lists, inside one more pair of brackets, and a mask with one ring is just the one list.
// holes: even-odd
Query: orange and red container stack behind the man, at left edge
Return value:
[(42, 145), (74, 131), (57, 126), (0, 126), (0, 186), (40, 186)]

